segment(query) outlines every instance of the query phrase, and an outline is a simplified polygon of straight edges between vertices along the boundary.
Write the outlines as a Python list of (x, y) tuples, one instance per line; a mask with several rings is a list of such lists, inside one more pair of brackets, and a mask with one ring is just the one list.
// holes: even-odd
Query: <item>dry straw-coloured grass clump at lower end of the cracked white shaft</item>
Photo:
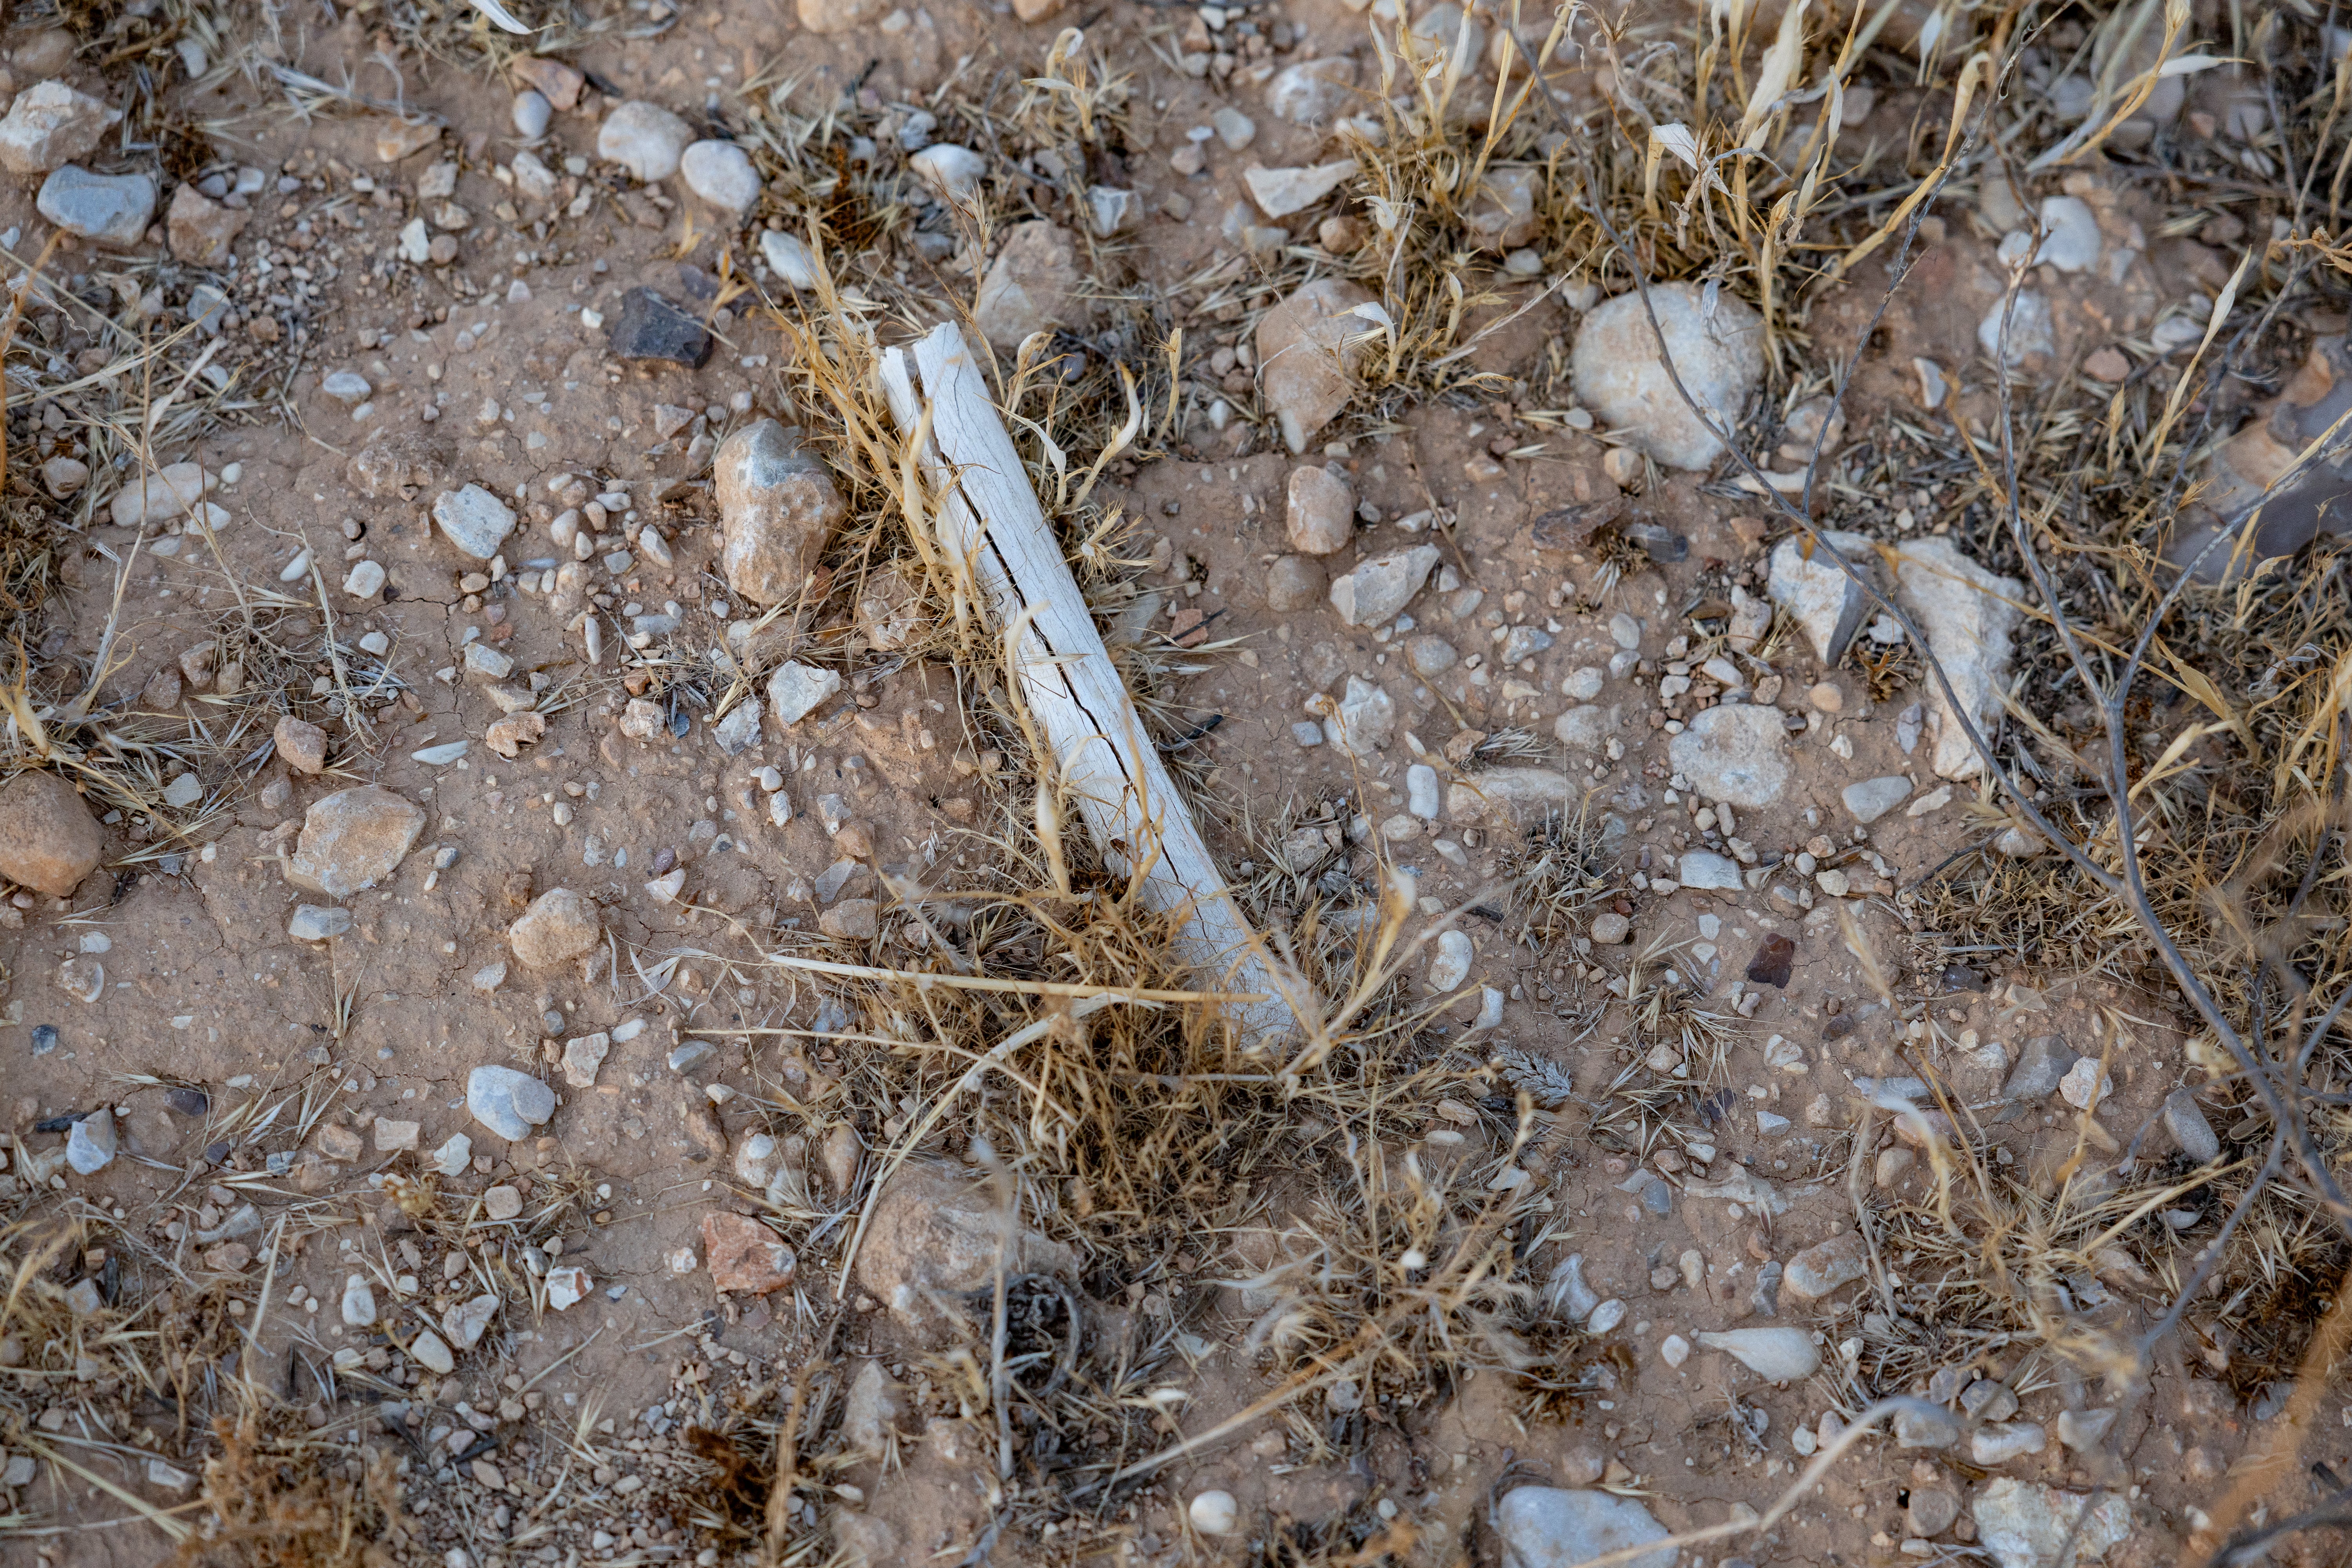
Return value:
[[(924, 1373), (929, 1408), (1007, 1455), (997, 1528), (1112, 1528), (1110, 1505), (1216, 1441), (1178, 1441), (1169, 1375), (1204, 1354), (1197, 1333), (1225, 1291), (1254, 1302), (1235, 1324), (1242, 1354), (1275, 1378), (1240, 1420), (1289, 1420), (1310, 1458), (1352, 1453), (1470, 1368), (1529, 1373), (1557, 1401), (1590, 1392), (1524, 1262), (1548, 1211), (1529, 1175), (1555, 1126), (1541, 1107), (1564, 1093), (1524, 1060), (1449, 1048), (1435, 1009), (1406, 1001), (1409, 900), (1390, 893), (1367, 907), (1376, 924), (1350, 929), (1324, 926), (1319, 896), (1296, 910), (1277, 943), (1319, 994), (1359, 1006), (1327, 1051), (1270, 1072), (1207, 1009), (1117, 999), (1181, 994), (1169, 931), (1077, 837), (1061, 844), (1065, 896), (1021, 891), (1054, 884), (1033, 832), (1000, 827), (988, 886), (908, 900), (884, 936), (903, 969), (849, 985), (851, 1027), (776, 1074), (811, 1095), (797, 1117), (779, 1100), (779, 1133), (814, 1147), (821, 1124), (863, 1128), (854, 1192), (769, 1194), (802, 1267), (830, 1279), (913, 1159), (993, 1171), (983, 1192), (1080, 1248), (1084, 1291), (1014, 1274), (1002, 1300), (974, 1293), (967, 1347)], [(908, 940), (946, 903), (960, 919)], [(1044, 985), (1096, 994), (1025, 994)], [(802, 1465), (821, 1467), (835, 1439), (809, 1432)]]

